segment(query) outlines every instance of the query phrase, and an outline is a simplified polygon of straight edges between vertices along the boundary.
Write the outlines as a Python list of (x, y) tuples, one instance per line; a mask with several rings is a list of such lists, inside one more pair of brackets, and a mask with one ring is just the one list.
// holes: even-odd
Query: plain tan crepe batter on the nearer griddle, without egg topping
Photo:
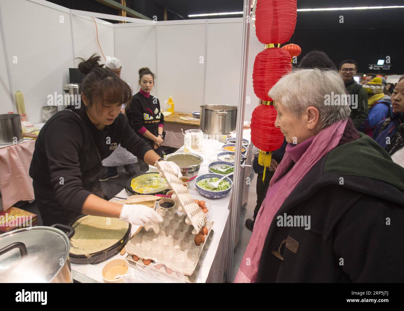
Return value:
[(117, 218), (83, 216), (73, 226), (75, 233), (70, 240), (70, 253), (93, 254), (105, 250), (122, 240), (129, 224)]

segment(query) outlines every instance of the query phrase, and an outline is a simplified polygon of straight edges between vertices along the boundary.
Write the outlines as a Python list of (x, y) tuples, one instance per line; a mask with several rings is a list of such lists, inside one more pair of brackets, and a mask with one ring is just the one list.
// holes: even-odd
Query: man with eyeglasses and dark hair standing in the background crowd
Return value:
[(339, 74), (341, 74), (341, 77), (344, 80), (345, 88), (350, 95), (358, 95), (356, 109), (351, 107), (350, 116), (356, 129), (365, 122), (369, 113), (368, 93), (362, 88), (362, 84), (356, 83), (353, 79), (357, 70), (358, 64), (352, 59), (345, 59), (345, 61), (341, 61), (339, 64)]

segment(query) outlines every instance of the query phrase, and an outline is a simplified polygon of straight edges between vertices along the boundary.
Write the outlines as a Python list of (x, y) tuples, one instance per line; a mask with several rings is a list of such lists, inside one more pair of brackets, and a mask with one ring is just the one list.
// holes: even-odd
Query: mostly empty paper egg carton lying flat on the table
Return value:
[[(126, 244), (128, 254), (141, 259), (151, 259), (157, 263), (166, 263), (182, 271), (185, 275), (192, 275), (196, 269), (201, 254), (210, 244), (213, 236), (213, 222), (206, 222), (208, 234), (205, 242), (199, 246), (195, 244), (194, 227), (187, 224), (186, 215), (180, 216), (175, 211), (158, 209), (164, 221), (157, 225), (143, 227)], [(163, 214), (164, 213), (164, 214)]]

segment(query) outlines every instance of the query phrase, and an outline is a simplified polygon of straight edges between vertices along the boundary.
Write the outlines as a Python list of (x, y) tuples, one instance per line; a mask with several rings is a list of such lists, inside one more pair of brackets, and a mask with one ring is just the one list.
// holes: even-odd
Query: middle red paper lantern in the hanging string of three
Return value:
[(258, 98), (272, 101), (269, 90), (278, 80), (292, 70), (290, 56), (282, 48), (267, 48), (255, 57), (252, 69), (252, 86)]

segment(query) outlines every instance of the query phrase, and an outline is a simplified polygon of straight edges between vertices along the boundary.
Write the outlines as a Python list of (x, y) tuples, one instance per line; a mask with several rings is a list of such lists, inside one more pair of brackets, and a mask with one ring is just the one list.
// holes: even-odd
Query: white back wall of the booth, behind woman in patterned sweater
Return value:
[[(242, 26), (242, 18), (115, 24), (122, 78), (137, 91), (138, 70), (149, 67), (156, 74), (152, 94), (161, 105), (172, 96), (176, 111), (199, 111), (203, 104), (237, 106)], [(252, 66), (261, 50), (263, 44), (251, 26), (245, 120), (259, 103), (252, 88)]]

